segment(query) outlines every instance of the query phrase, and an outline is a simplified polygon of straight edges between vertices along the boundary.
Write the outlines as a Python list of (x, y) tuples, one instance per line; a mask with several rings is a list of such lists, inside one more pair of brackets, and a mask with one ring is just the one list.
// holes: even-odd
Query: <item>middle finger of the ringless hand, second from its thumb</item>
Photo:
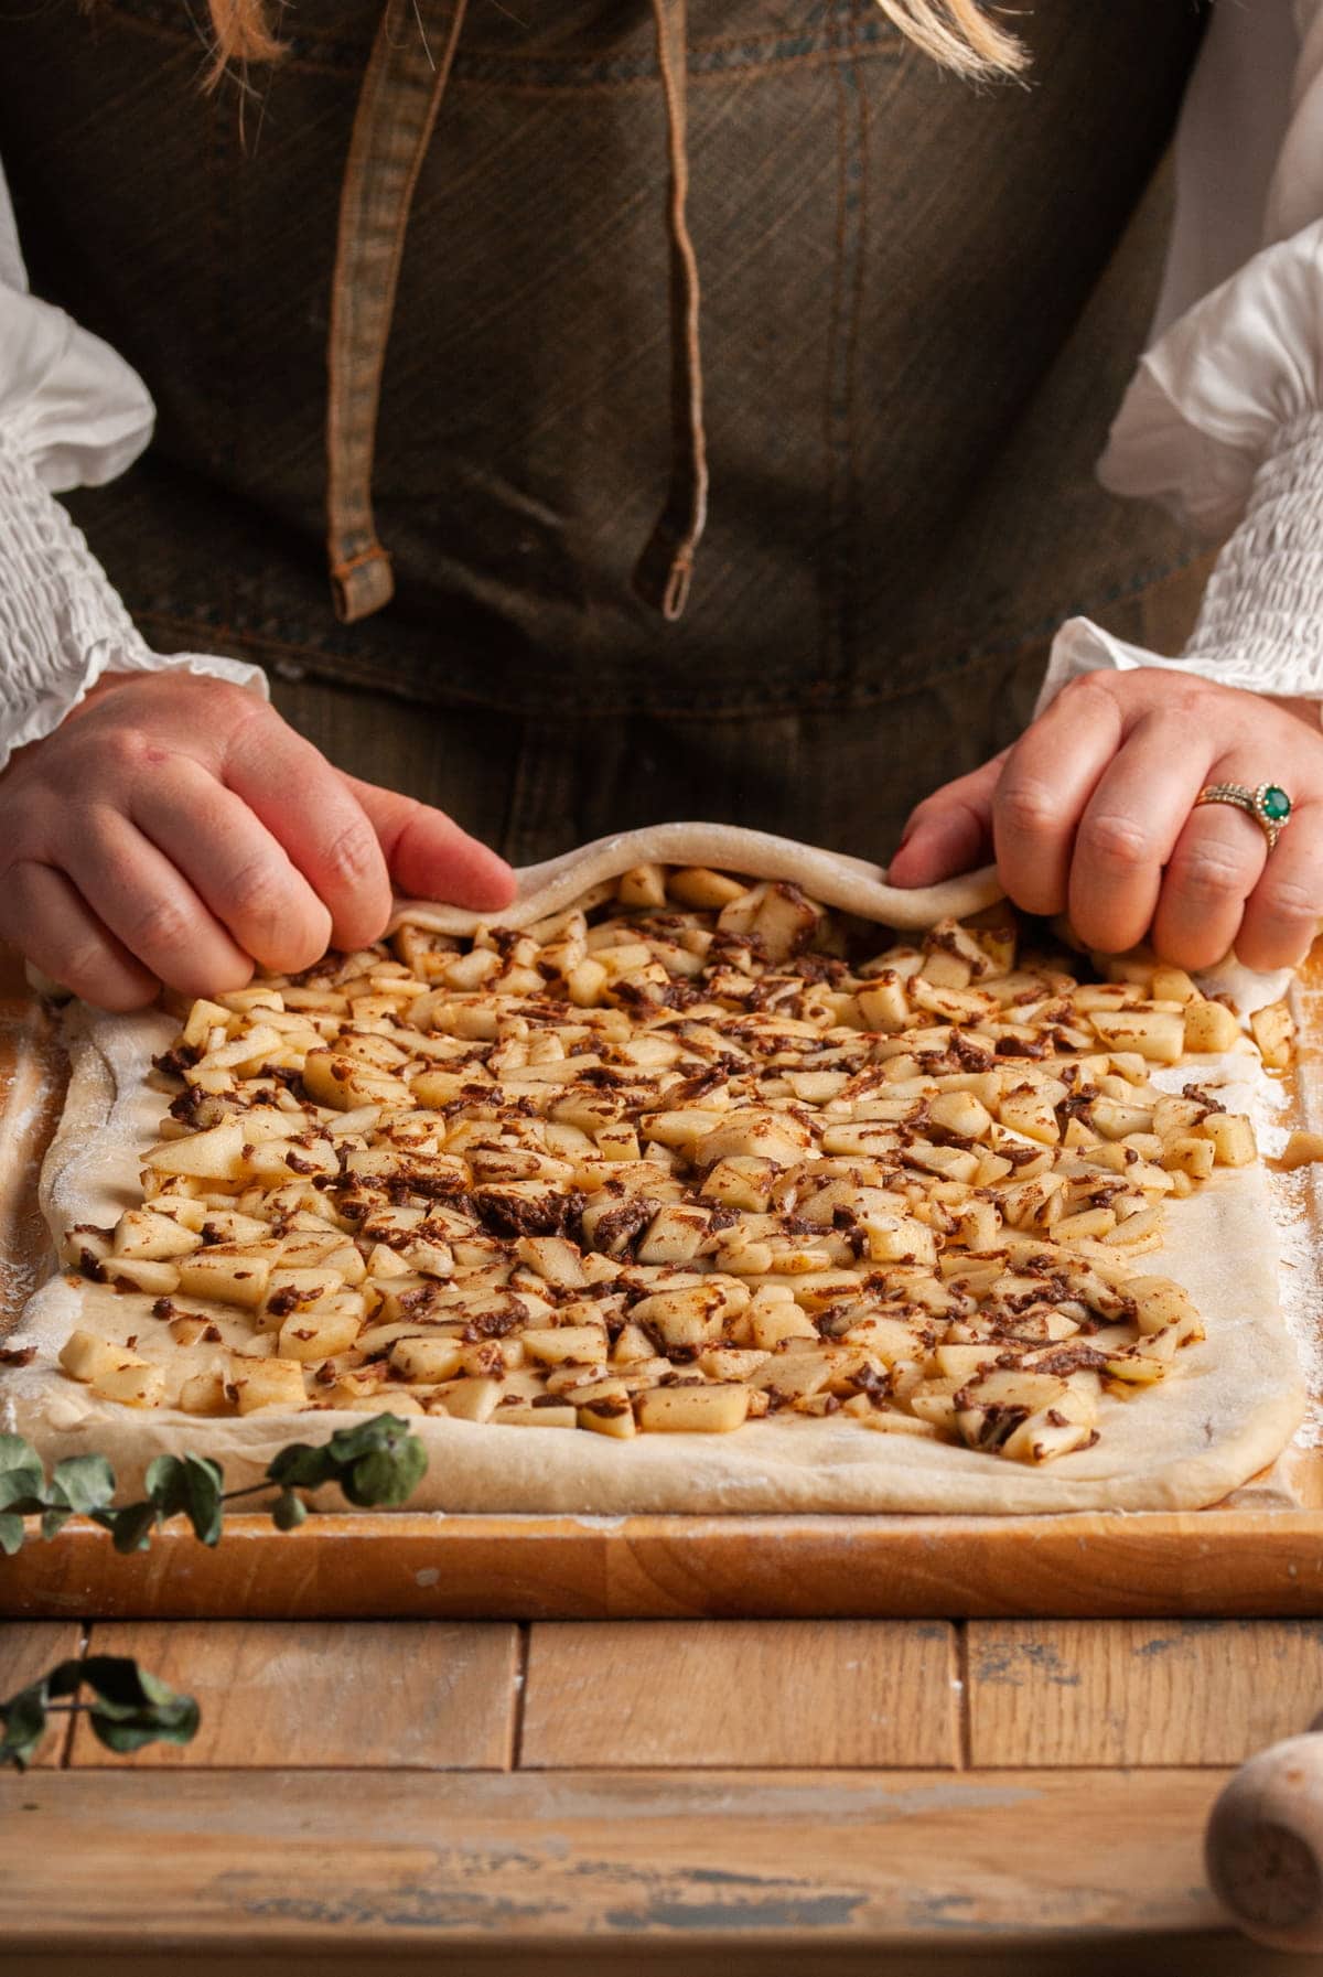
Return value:
[(180, 868), (237, 945), (279, 975), (326, 953), (330, 911), (247, 803), (178, 757), (132, 791), (134, 824)]

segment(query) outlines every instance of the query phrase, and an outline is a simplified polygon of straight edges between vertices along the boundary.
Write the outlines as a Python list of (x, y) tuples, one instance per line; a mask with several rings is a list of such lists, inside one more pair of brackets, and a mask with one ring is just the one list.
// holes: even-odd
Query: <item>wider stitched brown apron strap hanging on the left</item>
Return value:
[(413, 186), (431, 142), (467, 0), (388, 0), (354, 113), (326, 344), (326, 554), (336, 617), (390, 603), (372, 518), (382, 366)]

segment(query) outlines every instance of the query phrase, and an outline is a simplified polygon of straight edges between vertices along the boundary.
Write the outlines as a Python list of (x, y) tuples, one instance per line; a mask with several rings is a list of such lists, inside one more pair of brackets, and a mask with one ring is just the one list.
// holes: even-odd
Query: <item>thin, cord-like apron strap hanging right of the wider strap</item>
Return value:
[(653, 0), (657, 59), (666, 99), (670, 164), (670, 488), (661, 520), (635, 569), (635, 589), (678, 619), (694, 573), (694, 550), (708, 520), (708, 441), (702, 423), (698, 340), (698, 259), (684, 214), (688, 198), (686, 0)]

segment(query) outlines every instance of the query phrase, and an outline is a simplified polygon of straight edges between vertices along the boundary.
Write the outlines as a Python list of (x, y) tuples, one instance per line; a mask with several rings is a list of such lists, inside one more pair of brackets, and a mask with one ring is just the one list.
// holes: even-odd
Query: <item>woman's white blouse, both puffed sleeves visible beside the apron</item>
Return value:
[[(152, 401), (28, 293), (0, 174), (0, 767), (107, 670), (257, 666), (152, 652), (53, 498), (146, 447)], [(1072, 619), (1040, 706), (1096, 666), (1181, 666), (1323, 704), (1323, 0), (1216, 0), (1177, 132), (1153, 340), (1100, 463), (1115, 494), (1232, 530), (1181, 660)]]

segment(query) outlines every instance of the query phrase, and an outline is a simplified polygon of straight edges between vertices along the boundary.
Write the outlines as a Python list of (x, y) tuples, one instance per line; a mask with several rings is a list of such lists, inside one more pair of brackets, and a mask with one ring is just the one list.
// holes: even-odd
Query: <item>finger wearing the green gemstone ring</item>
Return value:
[[(1216, 763), (1204, 781), (1248, 779), (1232, 757)], [(1183, 969), (1210, 969), (1220, 961), (1238, 941), (1246, 900), (1266, 862), (1268, 840), (1244, 811), (1226, 803), (1200, 803), (1191, 811), (1153, 915), (1153, 945), (1159, 955)]]

